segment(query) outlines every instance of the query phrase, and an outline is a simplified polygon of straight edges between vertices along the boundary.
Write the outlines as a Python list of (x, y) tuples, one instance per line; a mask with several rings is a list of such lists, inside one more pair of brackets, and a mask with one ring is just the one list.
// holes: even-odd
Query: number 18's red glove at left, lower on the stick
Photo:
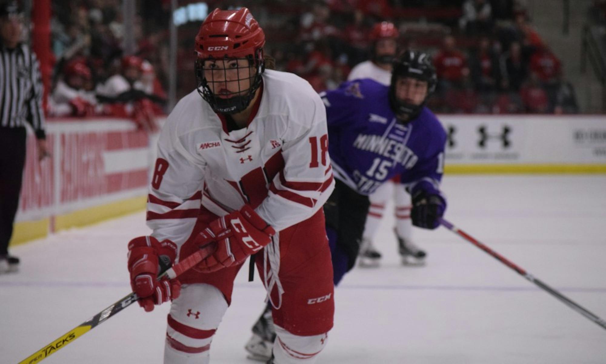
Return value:
[(178, 280), (156, 280), (159, 261), (162, 260), (164, 265), (172, 265), (176, 252), (177, 246), (172, 241), (159, 242), (150, 236), (134, 238), (128, 243), (130, 286), (139, 296), (139, 306), (145, 311), (152, 311), (154, 305), (179, 297), (181, 283)]

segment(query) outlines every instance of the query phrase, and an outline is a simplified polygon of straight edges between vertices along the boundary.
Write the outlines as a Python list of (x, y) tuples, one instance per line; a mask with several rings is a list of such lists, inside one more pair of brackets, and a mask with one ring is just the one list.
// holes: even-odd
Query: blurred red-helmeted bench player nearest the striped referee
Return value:
[(95, 115), (95, 93), (87, 90), (91, 76), (85, 59), (76, 58), (67, 62), (63, 69), (63, 79), (59, 80), (49, 98), (48, 113), (52, 116)]

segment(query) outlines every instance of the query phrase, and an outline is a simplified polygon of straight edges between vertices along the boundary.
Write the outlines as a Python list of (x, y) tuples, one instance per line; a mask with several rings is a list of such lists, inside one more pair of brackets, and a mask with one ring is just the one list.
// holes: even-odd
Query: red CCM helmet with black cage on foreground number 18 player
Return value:
[[(261, 74), (265, 70), (264, 45), (265, 34), (248, 8), (242, 7), (239, 10), (216, 8), (204, 20), (196, 36), (195, 50), (198, 58), (196, 58), (195, 71), (198, 92), (215, 112), (237, 113), (246, 109), (250, 104), (256, 90), (261, 86)], [(204, 72), (205, 63), (237, 59), (246, 59), (248, 66), (238, 67), (238, 79), (231, 81), (242, 81), (248, 78), (250, 87), (247, 90), (223, 93), (221, 97), (215, 95), (209, 86), (209, 83), (215, 81), (207, 79)], [(254, 73), (250, 72), (250, 67), (255, 69)], [(213, 75), (212, 72), (209, 74)], [(227, 75), (224, 76), (225, 78), (222, 79), (227, 79)]]

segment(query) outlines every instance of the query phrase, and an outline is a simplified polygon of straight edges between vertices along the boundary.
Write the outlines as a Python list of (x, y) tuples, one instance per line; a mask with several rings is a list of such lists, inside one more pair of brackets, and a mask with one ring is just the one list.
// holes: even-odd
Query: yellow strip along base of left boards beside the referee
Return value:
[[(87, 226), (110, 218), (120, 217), (145, 209), (147, 196), (127, 198), (99, 206), (87, 207), (68, 214), (55, 217), (55, 231), (70, 227)], [(15, 224), (13, 237), (9, 246), (27, 243), (27, 241), (43, 238), (48, 235), (50, 218), (38, 221), (20, 221)]]

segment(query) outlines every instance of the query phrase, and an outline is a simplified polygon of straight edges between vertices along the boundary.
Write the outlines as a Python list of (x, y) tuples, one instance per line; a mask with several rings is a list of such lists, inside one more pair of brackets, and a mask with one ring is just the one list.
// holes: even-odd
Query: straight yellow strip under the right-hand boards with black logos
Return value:
[(446, 164), (445, 174), (606, 174), (606, 164)]

